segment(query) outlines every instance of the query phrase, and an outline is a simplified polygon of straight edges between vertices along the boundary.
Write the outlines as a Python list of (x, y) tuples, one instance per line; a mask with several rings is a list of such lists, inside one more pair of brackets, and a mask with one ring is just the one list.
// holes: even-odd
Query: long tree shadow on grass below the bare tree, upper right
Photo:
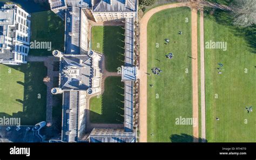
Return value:
[(256, 54), (256, 24), (248, 27), (234, 26), (232, 13), (220, 9), (213, 10), (211, 8), (205, 8), (204, 13), (205, 18), (214, 19), (218, 24), (230, 28), (235, 36), (244, 38), (250, 48), (250, 52)]

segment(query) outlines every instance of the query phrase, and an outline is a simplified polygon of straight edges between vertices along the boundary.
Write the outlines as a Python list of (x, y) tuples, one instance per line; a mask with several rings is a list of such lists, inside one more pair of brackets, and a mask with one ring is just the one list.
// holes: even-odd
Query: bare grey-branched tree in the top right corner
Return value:
[(255, 0), (234, 0), (231, 8), (234, 16), (234, 25), (247, 27), (256, 24)]

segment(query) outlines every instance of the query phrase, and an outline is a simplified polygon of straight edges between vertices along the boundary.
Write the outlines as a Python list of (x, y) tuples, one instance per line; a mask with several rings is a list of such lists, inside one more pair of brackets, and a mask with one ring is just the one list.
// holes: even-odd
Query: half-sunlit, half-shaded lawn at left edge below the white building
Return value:
[(47, 74), (44, 64), (0, 64), (0, 71), (0, 117), (21, 118), (21, 125), (35, 125), (44, 121), (46, 85), (43, 78)]

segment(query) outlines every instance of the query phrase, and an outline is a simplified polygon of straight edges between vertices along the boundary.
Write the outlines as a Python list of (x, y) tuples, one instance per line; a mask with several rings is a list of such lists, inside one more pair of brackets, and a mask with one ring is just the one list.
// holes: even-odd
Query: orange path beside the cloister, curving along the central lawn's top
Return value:
[(153, 8), (145, 13), (143, 18), (140, 20), (140, 48), (139, 48), (139, 70), (138, 70), (138, 78), (140, 79), (139, 83), (139, 141), (147, 142), (147, 23), (151, 16), (154, 13), (157, 13), (161, 10), (176, 8), (180, 6), (190, 6), (190, 2), (183, 3), (175, 3), (175, 4), (167, 4), (161, 5), (156, 8)]

